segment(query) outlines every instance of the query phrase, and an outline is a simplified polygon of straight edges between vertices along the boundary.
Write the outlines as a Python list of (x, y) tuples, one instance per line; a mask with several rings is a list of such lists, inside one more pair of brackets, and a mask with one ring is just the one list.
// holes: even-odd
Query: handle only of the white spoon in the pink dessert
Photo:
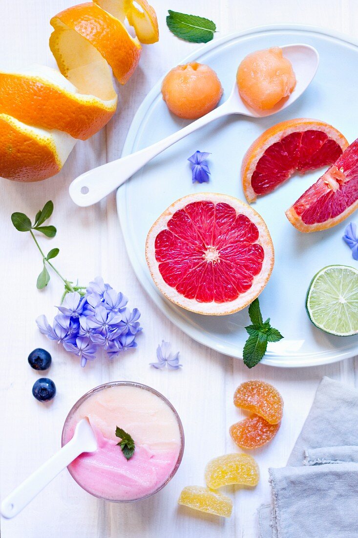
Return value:
[(4, 518), (11, 519), (21, 512), (81, 452), (83, 452), (83, 448), (81, 448), (78, 438), (72, 438), (3, 500), (0, 513)]

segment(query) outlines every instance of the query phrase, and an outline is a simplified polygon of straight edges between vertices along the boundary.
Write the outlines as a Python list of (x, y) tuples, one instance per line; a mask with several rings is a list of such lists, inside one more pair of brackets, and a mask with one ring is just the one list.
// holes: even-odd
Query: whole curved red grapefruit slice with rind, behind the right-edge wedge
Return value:
[(297, 118), (277, 123), (248, 148), (241, 166), (242, 188), (248, 202), (268, 194), (300, 174), (333, 164), (348, 141), (332, 125)]

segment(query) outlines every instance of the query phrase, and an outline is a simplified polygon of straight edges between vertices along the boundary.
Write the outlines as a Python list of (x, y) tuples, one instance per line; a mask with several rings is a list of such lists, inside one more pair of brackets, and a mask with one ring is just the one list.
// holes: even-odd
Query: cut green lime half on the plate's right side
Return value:
[(328, 265), (314, 275), (306, 310), (316, 327), (331, 335), (358, 333), (358, 271), (347, 265)]

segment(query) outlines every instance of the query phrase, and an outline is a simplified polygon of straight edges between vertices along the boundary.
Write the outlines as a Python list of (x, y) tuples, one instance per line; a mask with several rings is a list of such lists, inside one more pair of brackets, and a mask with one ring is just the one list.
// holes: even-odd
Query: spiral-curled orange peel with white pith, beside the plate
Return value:
[(76, 139), (95, 134), (116, 111), (111, 70), (125, 84), (137, 68), (140, 41), (159, 39), (146, 0), (75, 5), (51, 24), (49, 46), (60, 73), (45, 66), (0, 73), (0, 175), (8, 179), (40, 181), (58, 173)]

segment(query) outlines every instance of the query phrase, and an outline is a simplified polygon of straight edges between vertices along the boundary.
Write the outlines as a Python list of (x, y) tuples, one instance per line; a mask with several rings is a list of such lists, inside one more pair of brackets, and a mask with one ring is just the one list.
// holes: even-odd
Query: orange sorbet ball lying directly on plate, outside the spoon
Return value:
[(169, 71), (163, 80), (162, 95), (173, 114), (197, 119), (216, 107), (223, 88), (211, 67), (191, 62)]

